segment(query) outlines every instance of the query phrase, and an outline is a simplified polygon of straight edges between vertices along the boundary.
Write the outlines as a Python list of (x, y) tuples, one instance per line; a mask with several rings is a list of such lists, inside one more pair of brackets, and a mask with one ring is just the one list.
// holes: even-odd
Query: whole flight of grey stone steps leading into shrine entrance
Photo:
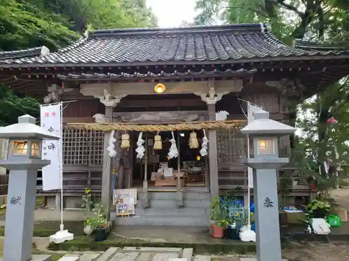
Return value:
[[(117, 225), (209, 226), (209, 192), (183, 192), (184, 207), (177, 207), (176, 192), (148, 192), (149, 207), (141, 203), (135, 215), (115, 219)], [(138, 198), (141, 198), (138, 193)]]

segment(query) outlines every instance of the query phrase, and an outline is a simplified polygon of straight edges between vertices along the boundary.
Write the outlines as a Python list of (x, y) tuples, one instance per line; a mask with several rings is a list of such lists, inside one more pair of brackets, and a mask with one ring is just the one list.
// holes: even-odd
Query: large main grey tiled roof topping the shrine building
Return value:
[(327, 54), (343, 51), (293, 48), (277, 40), (264, 24), (231, 24), (94, 31), (58, 52), (3, 60), (0, 66), (161, 65)]

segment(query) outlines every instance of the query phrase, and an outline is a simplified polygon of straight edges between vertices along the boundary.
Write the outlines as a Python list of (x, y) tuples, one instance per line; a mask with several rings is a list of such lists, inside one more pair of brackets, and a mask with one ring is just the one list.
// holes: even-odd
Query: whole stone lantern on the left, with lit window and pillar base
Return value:
[[(43, 139), (59, 137), (35, 125), (35, 118), (24, 115), (18, 117), (18, 123), (0, 128), (0, 138), (9, 140), (8, 155), (0, 166), (10, 171), (3, 261), (28, 261), (34, 230), (36, 177), (38, 169), (51, 163), (41, 159), (42, 143)], [(36, 256), (33, 260), (50, 260), (50, 255)]]

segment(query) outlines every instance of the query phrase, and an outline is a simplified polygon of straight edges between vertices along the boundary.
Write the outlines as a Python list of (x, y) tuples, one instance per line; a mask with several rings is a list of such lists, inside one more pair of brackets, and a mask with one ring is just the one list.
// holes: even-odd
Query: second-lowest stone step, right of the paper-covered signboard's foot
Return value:
[(208, 216), (209, 207), (207, 208), (157, 208), (150, 207), (147, 209), (137, 206), (135, 216)]

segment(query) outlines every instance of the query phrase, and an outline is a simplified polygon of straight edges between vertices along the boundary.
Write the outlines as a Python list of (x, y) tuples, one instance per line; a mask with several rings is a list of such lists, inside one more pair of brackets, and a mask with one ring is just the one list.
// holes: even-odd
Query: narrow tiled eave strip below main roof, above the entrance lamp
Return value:
[(186, 72), (159, 72), (159, 73), (153, 73), (153, 72), (147, 72), (146, 74), (142, 74), (139, 72), (135, 72), (133, 74), (128, 74), (121, 72), (121, 74), (114, 74), (114, 73), (82, 73), (82, 74), (57, 74), (57, 78), (61, 80), (66, 79), (119, 79), (119, 78), (162, 78), (162, 77), (172, 77), (172, 76), (210, 76), (210, 75), (222, 75), (222, 76), (232, 76), (232, 75), (239, 75), (240, 77), (246, 77), (251, 76), (257, 72), (257, 69), (253, 70), (246, 70), (246, 69), (240, 69), (240, 70), (200, 70), (200, 71), (193, 71), (193, 70), (187, 70)]

